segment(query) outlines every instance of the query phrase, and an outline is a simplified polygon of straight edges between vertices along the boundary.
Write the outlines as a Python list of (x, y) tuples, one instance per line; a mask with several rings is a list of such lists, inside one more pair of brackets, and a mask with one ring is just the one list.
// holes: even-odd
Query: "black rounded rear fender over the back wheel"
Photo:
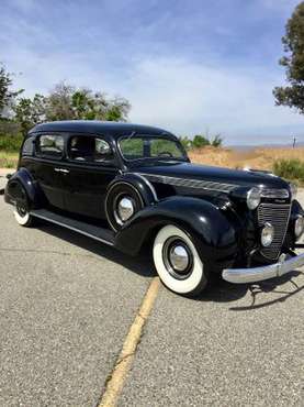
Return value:
[(5, 202), (14, 204), (16, 199), (20, 199), (22, 187), (25, 189), (30, 207), (38, 208), (43, 202), (43, 194), (26, 168), (18, 169), (10, 177), (4, 190)]

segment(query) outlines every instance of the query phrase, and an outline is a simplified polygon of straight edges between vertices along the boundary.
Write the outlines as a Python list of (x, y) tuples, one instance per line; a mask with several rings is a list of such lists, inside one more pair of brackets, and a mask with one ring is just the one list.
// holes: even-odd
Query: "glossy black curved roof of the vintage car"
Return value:
[(143, 124), (133, 124), (125, 122), (99, 121), (99, 120), (64, 120), (53, 121), (35, 125), (29, 134), (36, 132), (78, 132), (78, 133), (101, 133), (111, 134), (113, 138), (119, 138), (123, 134), (131, 134), (133, 132), (139, 134), (173, 135), (170, 132)]

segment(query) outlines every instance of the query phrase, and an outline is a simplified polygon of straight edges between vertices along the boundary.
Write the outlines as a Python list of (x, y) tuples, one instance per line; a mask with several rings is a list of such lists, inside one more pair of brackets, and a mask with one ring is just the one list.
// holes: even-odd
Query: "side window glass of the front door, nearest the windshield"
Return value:
[(90, 163), (108, 163), (113, 160), (110, 144), (101, 138), (76, 135), (70, 139), (68, 156), (71, 160)]

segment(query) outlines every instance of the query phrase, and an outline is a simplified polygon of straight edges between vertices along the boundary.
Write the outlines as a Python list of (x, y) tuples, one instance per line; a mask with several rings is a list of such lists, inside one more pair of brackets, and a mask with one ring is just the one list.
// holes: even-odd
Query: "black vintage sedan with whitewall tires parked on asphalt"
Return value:
[(273, 174), (193, 165), (161, 129), (63, 121), (30, 131), (4, 198), (22, 226), (47, 220), (132, 255), (149, 243), (162, 283), (196, 295), (213, 274), (251, 283), (304, 264), (294, 195)]

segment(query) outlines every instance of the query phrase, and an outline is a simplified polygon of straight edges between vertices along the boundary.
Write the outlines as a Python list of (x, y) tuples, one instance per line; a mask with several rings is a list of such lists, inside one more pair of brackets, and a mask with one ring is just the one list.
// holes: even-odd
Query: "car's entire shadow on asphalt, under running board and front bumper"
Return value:
[[(144, 248), (137, 256), (133, 257), (122, 253), (115, 248), (108, 246), (104, 243), (100, 243), (93, 239), (53, 223), (40, 222), (38, 229), (45, 233), (85, 249), (93, 255), (117, 263), (140, 276), (154, 277), (157, 275), (148, 248)], [(294, 271), (284, 276), (255, 284), (230, 284), (222, 278), (216, 278), (216, 282), (214, 282), (207, 290), (205, 290), (200, 297), (191, 298), (191, 300), (232, 302), (245, 297), (249, 293), (250, 296), (248, 297), (248, 305), (234, 306), (230, 307), (229, 310), (246, 311), (263, 308), (277, 302), (285, 301), (290, 297), (302, 292), (304, 289), (304, 285), (299, 286), (294, 279), (301, 274), (304, 273)], [(286, 288), (286, 283), (290, 283), (290, 288)], [(284, 287), (282, 287), (283, 285)], [(261, 297), (262, 293), (270, 295), (275, 294), (275, 297), (273, 298), (271, 295), (267, 301), (259, 302), (259, 297)]]

